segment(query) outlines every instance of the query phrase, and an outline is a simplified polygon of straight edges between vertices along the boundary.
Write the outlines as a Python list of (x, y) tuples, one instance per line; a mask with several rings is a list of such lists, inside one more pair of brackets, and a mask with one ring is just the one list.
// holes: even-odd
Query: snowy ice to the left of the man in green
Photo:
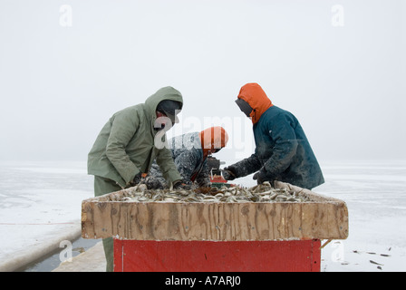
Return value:
[(24, 264), (24, 257), (32, 259), (77, 237), (82, 199), (93, 196), (85, 165), (0, 163), (0, 269), (13, 269)]

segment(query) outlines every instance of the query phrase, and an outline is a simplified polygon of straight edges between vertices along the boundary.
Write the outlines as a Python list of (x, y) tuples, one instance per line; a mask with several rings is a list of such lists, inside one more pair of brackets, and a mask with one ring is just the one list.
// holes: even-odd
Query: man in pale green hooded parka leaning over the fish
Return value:
[[(180, 92), (161, 88), (144, 103), (118, 111), (104, 125), (88, 156), (88, 173), (94, 175), (94, 195), (101, 196), (138, 184), (153, 160), (174, 188), (181, 176), (165, 145), (168, 126), (178, 121)], [(163, 130), (164, 129), (164, 130)], [(107, 271), (113, 270), (112, 238), (103, 239)]]

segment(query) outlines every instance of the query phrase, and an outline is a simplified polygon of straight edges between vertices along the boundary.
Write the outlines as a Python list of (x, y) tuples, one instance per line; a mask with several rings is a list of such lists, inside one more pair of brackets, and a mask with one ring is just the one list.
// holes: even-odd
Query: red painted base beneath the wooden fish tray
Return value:
[(320, 240), (114, 239), (115, 272), (318, 272)]

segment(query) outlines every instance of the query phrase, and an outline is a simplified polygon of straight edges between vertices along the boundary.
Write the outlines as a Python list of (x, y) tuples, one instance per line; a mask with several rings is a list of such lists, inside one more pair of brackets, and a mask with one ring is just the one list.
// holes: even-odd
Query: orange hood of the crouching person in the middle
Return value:
[(228, 141), (227, 131), (222, 127), (210, 127), (198, 133), (201, 147), (203, 150), (203, 158), (208, 156), (209, 151), (214, 153), (217, 149), (226, 147)]

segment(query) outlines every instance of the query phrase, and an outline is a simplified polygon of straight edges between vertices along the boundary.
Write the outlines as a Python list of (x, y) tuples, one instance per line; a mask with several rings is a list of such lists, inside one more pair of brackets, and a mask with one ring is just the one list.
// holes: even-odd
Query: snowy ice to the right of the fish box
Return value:
[[(349, 211), (349, 237), (323, 248), (321, 270), (406, 271), (406, 160), (329, 161), (321, 167), (325, 183), (313, 191), (342, 199)], [(252, 176), (233, 182), (256, 184)]]

